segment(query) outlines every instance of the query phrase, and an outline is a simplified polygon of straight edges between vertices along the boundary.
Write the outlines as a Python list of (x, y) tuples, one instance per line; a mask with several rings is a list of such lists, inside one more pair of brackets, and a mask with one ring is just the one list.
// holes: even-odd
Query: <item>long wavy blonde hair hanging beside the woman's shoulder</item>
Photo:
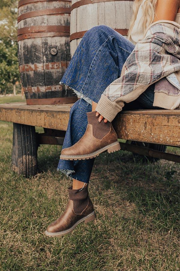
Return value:
[[(134, 22), (137, 17), (138, 10), (139, 10), (142, 2), (143, 2), (143, 0), (134, 0), (134, 3), (133, 3), (133, 11), (134, 12), (133, 12), (133, 17), (132, 17), (131, 24), (129, 27), (129, 31), (128, 31), (128, 39), (131, 39), (131, 32), (132, 32)], [(143, 26), (144, 33), (146, 31), (146, 27), (148, 27), (154, 20), (157, 2), (158, 2), (158, 0), (145, 0), (144, 4), (142, 6), (144, 16), (143, 16), (143, 21), (141, 23)]]

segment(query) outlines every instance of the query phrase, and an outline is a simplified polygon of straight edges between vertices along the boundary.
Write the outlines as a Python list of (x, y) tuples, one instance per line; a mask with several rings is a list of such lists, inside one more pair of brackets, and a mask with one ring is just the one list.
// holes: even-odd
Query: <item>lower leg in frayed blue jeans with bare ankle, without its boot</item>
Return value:
[[(84, 135), (87, 127), (87, 112), (91, 111), (91, 105), (84, 99), (76, 101), (71, 107), (69, 122), (62, 149), (74, 145)], [(73, 179), (73, 189), (81, 188), (89, 182), (94, 159), (70, 161), (59, 159), (57, 170)], [(82, 185), (82, 186), (81, 186)], [(81, 187), (79, 187), (81, 186)]]

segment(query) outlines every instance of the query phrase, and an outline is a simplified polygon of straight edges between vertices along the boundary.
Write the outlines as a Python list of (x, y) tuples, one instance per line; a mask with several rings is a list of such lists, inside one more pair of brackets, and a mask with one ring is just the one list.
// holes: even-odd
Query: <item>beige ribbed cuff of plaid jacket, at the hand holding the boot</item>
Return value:
[(98, 101), (96, 111), (109, 122), (112, 122), (121, 110), (105, 95), (102, 94), (100, 100)]

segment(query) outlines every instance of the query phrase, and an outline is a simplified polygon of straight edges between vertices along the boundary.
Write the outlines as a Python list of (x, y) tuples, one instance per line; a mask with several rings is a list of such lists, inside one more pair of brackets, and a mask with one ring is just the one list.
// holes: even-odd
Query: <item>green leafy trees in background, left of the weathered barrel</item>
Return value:
[[(0, 90), (16, 93), (20, 81), (17, 58), (17, 0), (0, 1)], [(11, 87), (10, 87), (11, 86)]]

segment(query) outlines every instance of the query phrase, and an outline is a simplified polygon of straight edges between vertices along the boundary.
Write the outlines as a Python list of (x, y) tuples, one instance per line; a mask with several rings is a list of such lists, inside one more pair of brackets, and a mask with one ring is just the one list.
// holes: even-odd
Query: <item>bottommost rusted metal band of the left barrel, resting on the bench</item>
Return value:
[(47, 99), (26, 99), (27, 105), (38, 104), (71, 104), (77, 101), (77, 97), (47, 98)]

